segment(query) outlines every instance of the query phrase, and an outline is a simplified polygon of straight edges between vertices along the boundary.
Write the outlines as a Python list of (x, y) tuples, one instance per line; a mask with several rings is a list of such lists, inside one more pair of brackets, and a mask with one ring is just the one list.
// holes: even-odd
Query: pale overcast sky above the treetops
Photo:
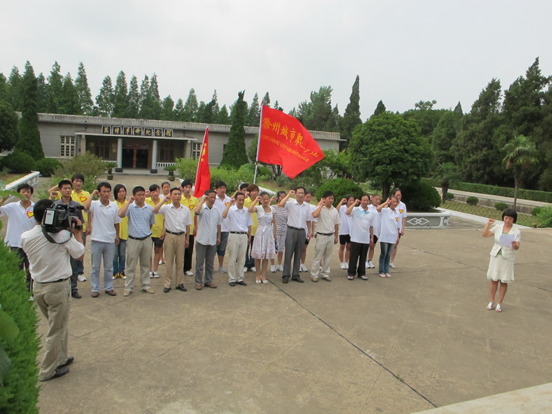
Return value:
[(46, 77), (84, 63), (95, 98), (106, 75), (157, 73), (161, 99), (190, 88), (230, 104), (270, 93), (288, 112), (320, 86), (343, 114), (360, 77), (362, 120), (437, 100), (464, 112), (496, 77), (502, 88), (540, 57), (552, 75), (552, 1), (4, 1), (0, 71), (25, 61)]

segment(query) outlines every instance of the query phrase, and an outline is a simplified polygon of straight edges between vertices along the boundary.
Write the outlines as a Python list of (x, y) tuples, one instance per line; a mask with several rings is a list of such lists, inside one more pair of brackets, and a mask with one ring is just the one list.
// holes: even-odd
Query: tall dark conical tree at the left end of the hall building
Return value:
[(37, 78), (29, 61), (25, 64), (21, 95), (21, 120), (19, 121), (19, 140), (15, 150), (21, 150), (34, 160), (44, 158), (39, 132), (37, 114)]

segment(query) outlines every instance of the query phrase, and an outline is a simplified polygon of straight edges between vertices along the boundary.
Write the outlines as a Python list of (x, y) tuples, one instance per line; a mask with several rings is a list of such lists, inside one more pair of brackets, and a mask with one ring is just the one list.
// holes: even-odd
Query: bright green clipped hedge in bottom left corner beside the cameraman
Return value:
[(0, 243), (0, 304), (19, 328), (19, 335), (4, 343), (12, 362), (0, 386), (0, 413), (38, 413), (37, 312), (29, 301), (26, 275), (19, 270), (19, 257)]

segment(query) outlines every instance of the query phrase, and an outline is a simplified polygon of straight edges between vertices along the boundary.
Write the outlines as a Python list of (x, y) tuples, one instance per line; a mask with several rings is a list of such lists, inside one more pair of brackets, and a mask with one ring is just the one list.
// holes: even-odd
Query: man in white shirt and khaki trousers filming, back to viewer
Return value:
[(67, 279), (71, 276), (70, 257), (79, 259), (84, 255), (82, 230), (77, 229), (81, 224), (79, 221), (72, 224), (73, 235), (62, 230), (59, 233), (48, 233), (56, 243), (50, 243), (46, 239), (41, 223), (46, 210), (52, 208), (53, 204), (52, 200), (47, 199), (34, 204), (36, 226), (21, 235), (21, 245), (28, 256), (34, 281), (34, 299), (48, 319), (40, 381), (65, 375), (69, 372), (67, 366), (75, 359), (67, 356), (71, 292)]

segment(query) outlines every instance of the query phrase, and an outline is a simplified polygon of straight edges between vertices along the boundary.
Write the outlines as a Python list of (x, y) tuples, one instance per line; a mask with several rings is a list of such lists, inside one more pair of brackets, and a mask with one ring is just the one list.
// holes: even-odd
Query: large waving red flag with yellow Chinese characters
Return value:
[(263, 106), (257, 161), (282, 166), (284, 174), (295, 178), (322, 158), (324, 153), (297, 119)]

